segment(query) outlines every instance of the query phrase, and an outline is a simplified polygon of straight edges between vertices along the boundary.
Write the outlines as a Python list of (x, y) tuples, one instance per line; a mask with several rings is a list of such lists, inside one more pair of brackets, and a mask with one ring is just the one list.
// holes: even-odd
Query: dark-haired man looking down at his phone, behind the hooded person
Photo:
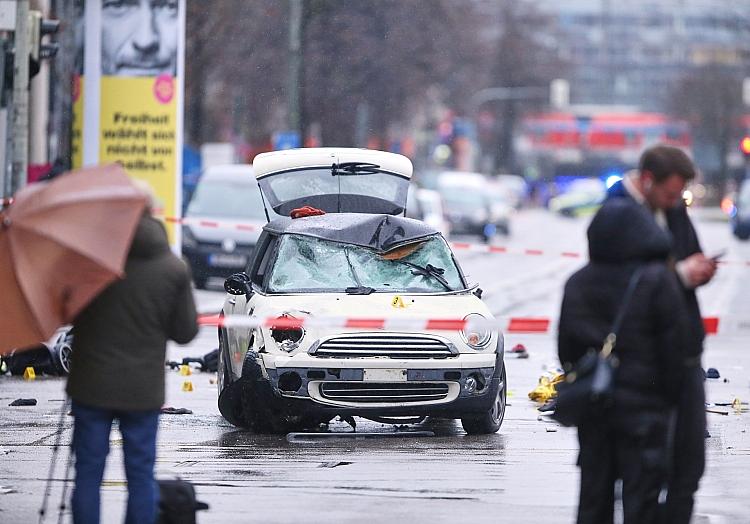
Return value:
[(685, 384), (679, 398), (672, 479), (667, 496), (667, 521), (688, 524), (693, 496), (705, 469), (705, 391), (701, 354), (705, 331), (695, 289), (711, 281), (716, 260), (706, 257), (682, 201), (695, 167), (680, 149), (658, 145), (641, 156), (638, 170), (613, 185), (608, 200), (646, 209), (669, 231), (671, 256), (688, 308), (688, 340), (684, 348)]

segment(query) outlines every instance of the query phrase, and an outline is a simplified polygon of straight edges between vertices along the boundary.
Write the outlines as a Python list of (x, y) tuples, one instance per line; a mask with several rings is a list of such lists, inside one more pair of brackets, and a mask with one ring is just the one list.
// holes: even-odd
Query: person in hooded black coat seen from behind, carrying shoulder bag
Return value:
[(645, 209), (621, 200), (602, 206), (588, 229), (590, 262), (566, 283), (558, 354), (570, 370), (599, 350), (636, 269), (614, 355), (614, 400), (578, 427), (581, 468), (578, 523), (613, 522), (622, 480), (625, 524), (658, 521), (668, 475), (667, 421), (683, 380), (687, 310), (668, 263), (670, 239)]

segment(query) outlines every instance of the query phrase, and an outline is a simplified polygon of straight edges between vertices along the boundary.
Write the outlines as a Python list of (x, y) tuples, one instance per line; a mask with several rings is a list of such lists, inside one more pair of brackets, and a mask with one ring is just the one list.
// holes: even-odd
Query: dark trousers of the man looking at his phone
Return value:
[(674, 457), (667, 494), (667, 522), (688, 524), (693, 495), (706, 466), (706, 393), (700, 367), (686, 370), (677, 407)]

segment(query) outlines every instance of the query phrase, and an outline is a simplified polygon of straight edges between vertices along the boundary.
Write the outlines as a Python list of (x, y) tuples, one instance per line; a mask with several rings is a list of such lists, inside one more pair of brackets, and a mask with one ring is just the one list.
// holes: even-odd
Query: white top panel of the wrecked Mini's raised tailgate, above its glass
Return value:
[(411, 160), (403, 155), (355, 147), (308, 147), (261, 153), (253, 159), (256, 178), (271, 173), (310, 167), (331, 167), (347, 162), (369, 162), (382, 171), (411, 178)]

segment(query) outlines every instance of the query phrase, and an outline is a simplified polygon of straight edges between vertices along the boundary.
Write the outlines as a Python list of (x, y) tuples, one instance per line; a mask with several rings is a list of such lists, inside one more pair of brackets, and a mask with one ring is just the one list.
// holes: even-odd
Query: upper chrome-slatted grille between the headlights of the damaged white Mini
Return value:
[(421, 335), (345, 335), (324, 340), (312, 352), (324, 358), (448, 358), (456, 351), (438, 338)]

